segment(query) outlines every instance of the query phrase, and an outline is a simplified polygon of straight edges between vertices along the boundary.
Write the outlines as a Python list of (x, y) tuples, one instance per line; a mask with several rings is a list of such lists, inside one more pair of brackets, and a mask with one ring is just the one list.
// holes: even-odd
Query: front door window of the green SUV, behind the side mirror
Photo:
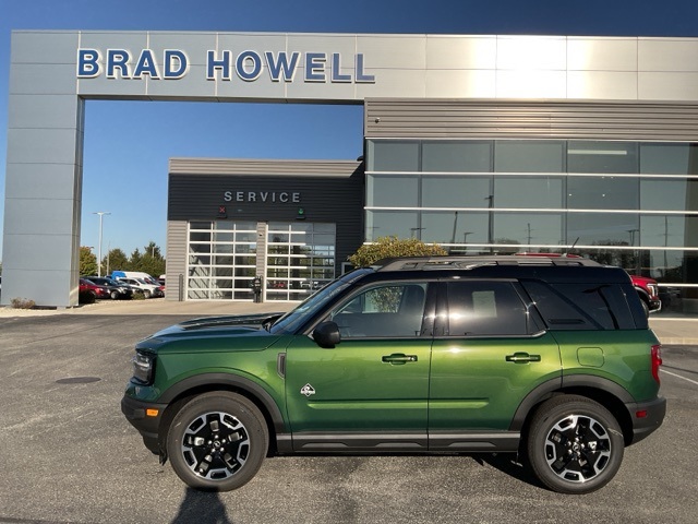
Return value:
[(426, 283), (373, 286), (340, 305), (330, 320), (342, 338), (420, 336)]

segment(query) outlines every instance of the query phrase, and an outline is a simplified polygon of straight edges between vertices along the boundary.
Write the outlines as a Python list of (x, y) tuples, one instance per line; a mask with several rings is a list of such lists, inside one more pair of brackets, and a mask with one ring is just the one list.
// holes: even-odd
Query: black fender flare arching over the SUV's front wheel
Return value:
[(158, 398), (160, 404), (171, 404), (176, 398), (185, 396), (188, 392), (205, 389), (207, 391), (216, 390), (216, 385), (224, 389), (241, 390), (246, 392), (253, 400), (258, 401), (266, 409), (274, 424), (274, 430), (277, 434), (287, 432), (286, 422), (281, 415), (281, 409), (277, 406), (272, 395), (260, 384), (230, 373), (203, 373), (190, 377), (168, 388), (163, 396)]

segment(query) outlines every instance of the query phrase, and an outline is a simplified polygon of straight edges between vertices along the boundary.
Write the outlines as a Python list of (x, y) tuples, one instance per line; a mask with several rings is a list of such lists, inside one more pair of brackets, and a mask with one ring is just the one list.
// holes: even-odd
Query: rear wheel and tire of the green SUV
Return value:
[(577, 395), (556, 396), (533, 415), (528, 463), (538, 479), (559, 493), (589, 493), (605, 486), (623, 462), (621, 427), (601, 404)]

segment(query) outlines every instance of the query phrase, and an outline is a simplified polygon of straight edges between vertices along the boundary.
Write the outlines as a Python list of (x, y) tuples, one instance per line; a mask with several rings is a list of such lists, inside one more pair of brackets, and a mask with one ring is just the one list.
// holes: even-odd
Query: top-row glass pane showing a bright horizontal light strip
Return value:
[(635, 142), (569, 141), (567, 144), (568, 172), (639, 171)]

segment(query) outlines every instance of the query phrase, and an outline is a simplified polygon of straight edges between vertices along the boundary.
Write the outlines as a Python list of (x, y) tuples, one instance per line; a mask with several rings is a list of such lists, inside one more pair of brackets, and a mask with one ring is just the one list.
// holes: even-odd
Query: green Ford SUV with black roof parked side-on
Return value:
[(265, 456), (518, 453), (585, 493), (654, 431), (660, 345), (622, 269), (578, 258), (409, 258), (280, 315), (203, 318), (136, 345), (121, 409), (189, 486)]

